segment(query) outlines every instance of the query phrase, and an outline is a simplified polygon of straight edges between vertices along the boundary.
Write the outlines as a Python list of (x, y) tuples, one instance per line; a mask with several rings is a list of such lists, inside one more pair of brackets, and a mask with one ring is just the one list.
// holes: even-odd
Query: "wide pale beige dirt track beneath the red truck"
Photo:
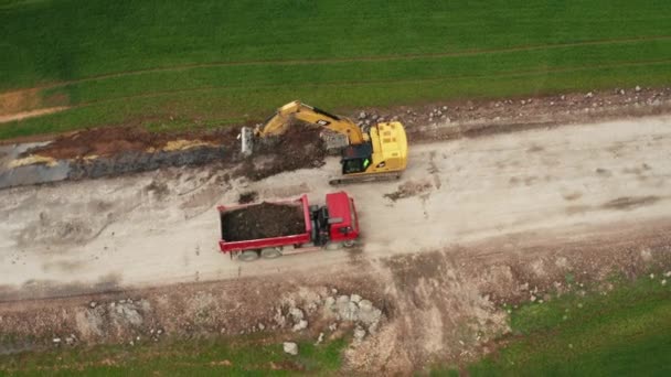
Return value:
[(202, 168), (8, 190), (0, 198), (9, 219), (0, 227), (1, 298), (375, 263), (491, 237), (514, 245), (523, 231), (579, 238), (596, 226), (668, 219), (669, 125), (665, 116), (413, 146), (401, 182), (347, 187), (361, 214), (360, 254), (241, 263), (216, 251), (216, 204), (236, 203), (245, 191), (259, 200), (308, 192), (319, 201), (332, 190), (326, 182), (337, 159), (252, 183)]

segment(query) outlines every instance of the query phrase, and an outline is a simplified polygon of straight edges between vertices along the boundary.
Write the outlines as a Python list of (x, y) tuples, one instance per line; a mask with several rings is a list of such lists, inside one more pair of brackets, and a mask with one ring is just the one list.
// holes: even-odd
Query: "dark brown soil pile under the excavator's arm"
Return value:
[(319, 168), (327, 155), (319, 127), (292, 125), (286, 133), (259, 140), (254, 158), (247, 160), (242, 175), (253, 181), (299, 169)]

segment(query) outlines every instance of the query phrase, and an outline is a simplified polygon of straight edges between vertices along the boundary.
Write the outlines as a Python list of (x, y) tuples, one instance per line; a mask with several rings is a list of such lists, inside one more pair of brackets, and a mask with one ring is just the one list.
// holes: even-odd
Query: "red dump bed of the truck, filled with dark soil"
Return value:
[(311, 240), (306, 195), (296, 201), (219, 207), (223, 252), (300, 245)]

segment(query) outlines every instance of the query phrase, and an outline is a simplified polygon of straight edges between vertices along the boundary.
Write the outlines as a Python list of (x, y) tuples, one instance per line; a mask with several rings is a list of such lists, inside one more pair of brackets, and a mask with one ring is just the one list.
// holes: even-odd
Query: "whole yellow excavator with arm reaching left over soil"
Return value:
[(407, 165), (407, 138), (401, 122), (380, 122), (364, 132), (349, 118), (298, 100), (277, 109), (275, 116), (255, 130), (244, 128), (243, 153), (252, 152), (255, 139), (283, 134), (295, 120), (331, 131), (323, 137), (327, 149), (339, 149), (342, 153), (342, 175), (331, 179), (331, 184), (400, 179)]

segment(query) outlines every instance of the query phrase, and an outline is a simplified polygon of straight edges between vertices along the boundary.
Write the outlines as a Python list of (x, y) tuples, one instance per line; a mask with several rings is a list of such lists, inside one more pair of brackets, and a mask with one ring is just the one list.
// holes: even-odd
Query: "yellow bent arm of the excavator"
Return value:
[(300, 120), (345, 134), (350, 144), (361, 144), (369, 140), (368, 136), (352, 120), (329, 114), (298, 100), (277, 109), (277, 112), (256, 130), (256, 136), (263, 138), (283, 134), (287, 131), (292, 120)]

